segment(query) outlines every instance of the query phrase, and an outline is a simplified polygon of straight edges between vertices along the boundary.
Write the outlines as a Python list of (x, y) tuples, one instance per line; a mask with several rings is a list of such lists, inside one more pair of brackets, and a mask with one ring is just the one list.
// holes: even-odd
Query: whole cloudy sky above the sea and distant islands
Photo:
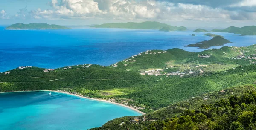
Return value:
[(158, 21), (172, 26), (256, 23), (256, 0), (0, 0), (0, 25)]

